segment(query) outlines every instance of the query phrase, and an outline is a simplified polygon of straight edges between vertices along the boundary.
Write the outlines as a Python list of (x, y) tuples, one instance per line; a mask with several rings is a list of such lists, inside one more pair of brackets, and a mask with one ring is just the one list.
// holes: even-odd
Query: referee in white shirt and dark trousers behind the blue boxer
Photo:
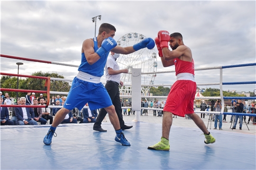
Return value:
[[(119, 69), (118, 63), (116, 59), (119, 57), (120, 54), (115, 54), (114, 52), (111, 52), (110, 56), (107, 59), (106, 66), (105, 66), (105, 72), (106, 72), (106, 80), (107, 83), (105, 85), (106, 90), (108, 91), (111, 101), (113, 105), (115, 106), (115, 110), (118, 115), (119, 124), (122, 130), (126, 130), (129, 128), (132, 128), (132, 126), (127, 126), (124, 124), (123, 115), (122, 115), (122, 108), (121, 108), (121, 102), (120, 102), (120, 94), (119, 94), (119, 84), (123, 86), (123, 82), (120, 81), (120, 74), (121, 73), (128, 73), (128, 69)], [(100, 131), (100, 132), (106, 132), (107, 130), (104, 130), (101, 128), (101, 122), (105, 118), (107, 114), (107, 111), (105, 109), (101, 109), (96, 122), (93, 125), (93, 130)]]

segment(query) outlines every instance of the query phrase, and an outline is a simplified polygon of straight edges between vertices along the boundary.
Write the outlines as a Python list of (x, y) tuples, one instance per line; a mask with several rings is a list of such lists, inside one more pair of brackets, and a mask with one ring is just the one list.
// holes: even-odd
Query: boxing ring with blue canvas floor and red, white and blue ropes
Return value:
[[(1, 57), (6, 57), (2, 55)], [(21, 59), (18, 57), (7, 57)], [(32, 61), (32, 59), (22, 58)], [(40, 62), (35, 60), (35, 62)], [(44, 62), (48, 64), (48, 61)], [(65, 65), (68, 66), (68, 65)], [(256, 84), (256, 82), (222, 82), (222, 69), (231, 67), (251, 67), (256, 63), (222, 66), (214, 68), (199, 68), (199, 70), (220, 69), (220, 82), (207, 85), (219, 85), (220, 97), (203, 97), (203, 99), (220, 99), (224, 105), (222, 85), (226, 84)], [(75, 67), (75, 66), (70, 66)], [(155, 72), (170, 73), (167, 72)], [(5, 75), (8, 73), (0, 73)], [(141, 73), (149, 74), (149, 73)], [(15, 75), (12, 75), (15, 76)], [(17, 75), (16, 75), (17, 76)], [(21, 76), (21, 75), (18, 75)], [(26, 77), (26, 75), (23, 75)], [(34, 77), (40, 78), (40, 77)], [(41, 77), (42, 78), (42, 77)], [(72, 81), (47, 77), (47, 80)], [(198, 84), (206, 85), (206, 84)], [(35, 93), (67, 94), (66, 92), (49, 91), (48, 82), (45, 91)], [(140, 85), (143, 86), (143, 85)], [(160, 85), (151, 85), (160, 86)], [(171, 85), (163, 85), (171, 86)], [(1, 91), (34, 92), (33, 90), (0, 89)], [(15, 91), (15, 92), (16, 92)], [(129, 97), (120, 95), (120, 97)], [(165, 96), (141, 96), (141, 98), (165, 98)], [(233, 98), (233, 97), (232, 97)], [(236, 99), (256, 99), (255, 97), (236, 97)], [(48, 105), (48, 104), (47, 104)], [(16, 105), (17, 106), (17, 105)], [(13, 105), (1, 105), (13, 107)], [(34, 107), (34, 106), (33, 106)], [(57, 106), (48, 106), (55, 108)], [(61, 107), (61, 106), (58, 106)], [(129, 108), (129, 107), (123, 107)], [(223, 108), (223, 107), (222, 107)], [(152, 108), (142, 108), (150, 109)], [(161, 110), (161, 109), (155, 109)], [(205, 112), (196, 113), (245, 115), (246, 113)], [(175, 119), (174, 119), (175, 121)], [(1, 126), (1, 169), (2, 170), (171, 170), (171, 169), (201, 169), (201, 170), (255, 170), (256, 169), (256, 134), (255, 128), (251, 134), (229, 131), (214, 131), (210, 133), (216, 138), (214, 144), (204, 144), (204, 136), (199, 128), (172, 126), (170, 131), (170, 152), (147, 150), (147, 146), (159, 141), (162, 125), (140, 121), (134, 116), (134, 121), (125, 121), (129, 126), (124, 134), (131, 146), (122, 146), (114, 141), (115, 131), (110, 122), (102, 122), (108, 132), (92, 130), (93, 124), (61, 124), (57, 127), (57, 137), (53, 137), (51, 145), (43, 144), (43, 138), (50, 125), (40, 126)], [(188, 123), (188, 122), (184, 122)]]

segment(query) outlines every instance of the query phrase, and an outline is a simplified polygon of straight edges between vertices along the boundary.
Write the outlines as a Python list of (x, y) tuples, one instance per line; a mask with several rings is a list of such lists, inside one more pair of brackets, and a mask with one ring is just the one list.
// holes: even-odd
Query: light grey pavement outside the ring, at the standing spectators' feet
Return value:
[[(200, 117), (201, 114), (197, 113)], [(143, 114), (144, 115), (144, 114)], [(140, 116), (140, 121), (141, 122), (147, 122), (147, 123), (157, 123), (157, 124), (162, 124), (162, 120), (163, 117), (155, 117), (153, 116), (153, 113), (148, 113), (148, 116)], [(230, 129), (230, 125), (231, 123), (229, 123), (231, 118), (231, 115), (227, 115), (226, 120), (227, 123), (222, 122), (222, 129), (223, 130), (219, 130), (219, 128), (217, 127), (217, 129), (213, 129), (214, 128), (214, 121), (211, 121), (211, 126), (210, 126), (210, 121), (209, 119), (209, 115), (205, 115), (205, 118), (202, 118), (205, 126), (207, 127), (208, 125), (208, 121), (209, 121), (209, 125), (208, 125), (208, 130), (209, 131), (226, 131), (226, 132), (232, 132), (232, 133), (242, 133), (242, 134), (251, 134), (251, 135), (256, 135), (256, 125), (253, 125), (250, 121), (249, 124), (247, 124), (247, 126), (249, 127), (249, 130), (246, 126), (246, 123), (243, 123), (242, 126), (242, 130), (239, 130), (239, 123), (237, 124), (236, 129)], [(110, 122), (108, 115), (106, 116), (107, 122)], [(123, 115), (123, 120), (125, 121), (125, 123), (131, 123), (133, 122), (133, 120), (135, 119), (135, 115), (130, 115), (130, 116), (124, 116)], [(247, 117), (248, 120), (248, 117)], [(239, 119), (238, 119), (239, 121)], [(103, 122), (102, 122), (103, 123)], [(173, 118), (173, 125), (172, 126), (177, 126), (177, 127), (193, 127), (193, 128), (198, 128), (196, 126), (196, 124), (194, 123), (194, 121), (192, 119), (185, 119), (183, 117), (178, 117), (177, 118)], [(232, 127), (231, 127), (232, 128)]]

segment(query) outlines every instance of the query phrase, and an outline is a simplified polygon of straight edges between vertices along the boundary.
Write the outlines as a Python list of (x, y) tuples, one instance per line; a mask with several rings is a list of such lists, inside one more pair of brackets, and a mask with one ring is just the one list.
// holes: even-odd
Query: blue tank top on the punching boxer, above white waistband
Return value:
[[(98, 48), (98, 41), (97, 41), (97, 37), (93, 38), (93, 42), (94, 42), (94, 51), (97, 51)], [(84, 53), (82, 53), (82, 60), (81, 60), (81, 64), (78, 68), (78, 71), (82, 71), (84, 73), (90, 74), (92, 76), (103, 76), (104, 74), (104, 67), (106, 65), (108, 56), (109, 56), (110, 52), (107, 52), (103, 57), (101, 57), (98, 61), (96, 61), (94, 64), (90, 65), (88, 64)]]

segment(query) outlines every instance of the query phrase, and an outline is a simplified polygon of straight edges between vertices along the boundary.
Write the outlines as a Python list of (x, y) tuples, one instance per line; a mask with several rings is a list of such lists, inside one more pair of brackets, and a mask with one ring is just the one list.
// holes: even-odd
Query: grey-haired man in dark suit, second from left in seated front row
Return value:
[[(20, 105), (26, 105), (26, 97), (20, 98)], [(34, 120), (35, 113), (32, 108), (15, 108), (16, 124), (17, 125), (37, 125)]]

